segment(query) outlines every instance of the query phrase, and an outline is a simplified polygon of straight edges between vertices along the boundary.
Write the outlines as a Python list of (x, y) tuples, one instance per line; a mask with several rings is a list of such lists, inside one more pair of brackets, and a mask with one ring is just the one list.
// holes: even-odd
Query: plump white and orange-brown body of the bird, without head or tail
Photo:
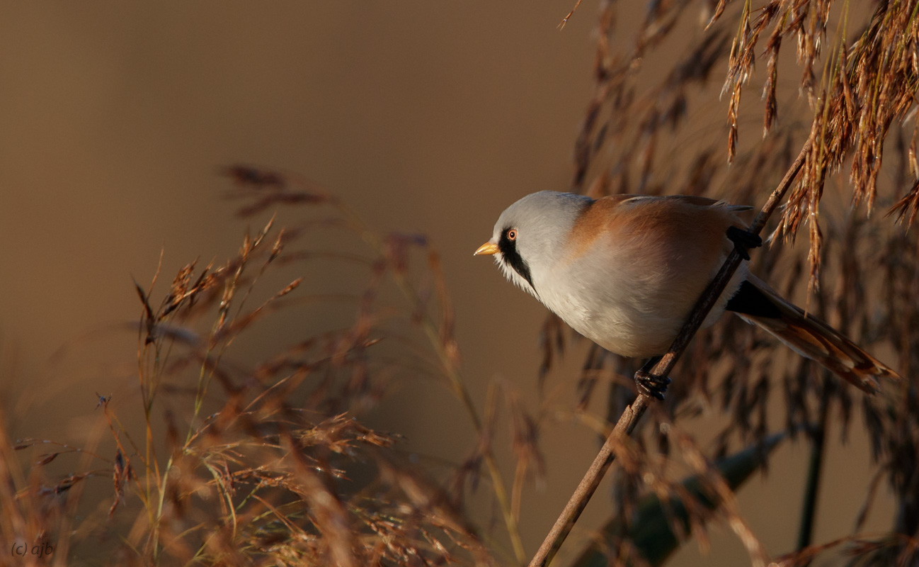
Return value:
[[(664, 353), (730, 252), (724, 231), (736, 222), (709, 202), (598, 200), (573, 228), (569, 256), (545, 274), (540, 299), (609, 351)], [(745, 266), (706, 323), (744, 277)]]

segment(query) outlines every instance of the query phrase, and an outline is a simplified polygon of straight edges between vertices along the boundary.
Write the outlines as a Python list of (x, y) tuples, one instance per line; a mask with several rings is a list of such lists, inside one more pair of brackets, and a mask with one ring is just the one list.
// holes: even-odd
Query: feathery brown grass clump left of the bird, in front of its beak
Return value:
[[(152, 290), (159, 273), (148, 286), (135, 283), (142, 307), (142, 430), (130, 430), (119, 416), (133, 409), (100, 396), (98, 408), (114, 446), (110, 457), (96, 457), (108, 463), (108, 473), (84, 471), (59, 480), (43, 471), (75, 449), (51, 445), (54, 451), (34, 460), (26, 473), (13, 451), (40, 450), (51, 442), (10, 445), (6, 435), (0, 437), (2, 461), (9, 465), (0, 468), (3, 538), (53, 540), (58, 551), (51, 559), (67, 562), (61, 542), (71, 539), (64, 535), (65, 516), (73, 508), (60, 496), (108, 474), (113, 487), (107, 509), (82, 520), (80, 535), (70, 543), (83, 546), (85, 554), (89, 542), (107, 540), (111, 564), (492, 563), (455, 494), (392, 450), (398, 435), (355, 419), (387, 391), (392, 363), (377, 351), (382, 339), (398, 340), (390, 332), (393, 319), (402, 321), (398, 332), (423, 330), (410, 341), (423, 341), (427, 331), (425, 356), (439, 359), (441, 375), (452, 373), (453, 387), (468, 398), (456, 374), (453, 316), (436, 253), (421, 237), (370, 232), (345, 205), (304, 191), (295, 178), (244, 167), (227, 173), (236, 186), (231, 197), (246, 201), (239, 209), (243, 217), (278, 204), (325, 206), (323, 225), (345, 226), (366, 241), (371, 255), (362, 261), (369, 267), (369, 287), (357, 298), (356, 320), (344, 330), (292, 341), (253, 368), (229, 362), (233, 343), (261, 319), (292, 307), (302, 282), (298, 277), (254, 303), (261, 280), (275, 268), (311, 260), (306, 250), (289, 252), (307, 226), (275, 230), (273, 219), (255, 235), (246, 233), (238, 254), (224, 264), (198, 269), (197, 262), (188, 263), (158, 301)], [(410, 273), (419, 251), (428, 260), (426, 289), (416, 288)], [(376, 301), (385, 278), (403, 290), (401, 312)], [(424, 351), (425, 344), (413, 348)], [(484, 443), (471, 459), (494, 461)], [(477, 475), (478, 466), (461, 474)], [(355, 475), (369, 480), (356, 483), (350, 480)]]

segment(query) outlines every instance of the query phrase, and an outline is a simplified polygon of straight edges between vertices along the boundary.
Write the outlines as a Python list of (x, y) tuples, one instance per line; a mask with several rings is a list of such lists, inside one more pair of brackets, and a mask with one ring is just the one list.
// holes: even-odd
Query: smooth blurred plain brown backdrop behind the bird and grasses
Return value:
[[(131, 278), (146, 286), (161, 252), (166, 283), (190, 260), (233, 256), (249, 221), (233, 216), (237, 203), (223, 198), (232, 183), (219, 174), (236, 162), (297, 172), (370, 226), (425, 234), (441, 254), (473, 399), (482, 407), (488, 385), (505, 381), (535, 411), (545, 310), (472, 251), (517, 198), (570, 187), (593, 85), (597, 3), (585, 0), (557, 29), (571, 5), (5, 6), (0, 394), (13, 437), (77, 441), (100, 419), (96, 393), (130, 396), (137, 334), (129, 324), (141, 309)], [(701, 123), (723, 139), (726, 101), (711, 105), (717, 118)], [(295, 214), (281, 220), (295, 222)], [(307, 283), (334, 277), (314, 272)], [(354, 310), (343, 309), (273, 321), (233, 356), (244, 361), (259, 341), (264, 348), (323, 329)], [(573, 411), (584, 348), (575, 344), (568, 364), (550, 374), (553, 408)], [(604, 415), (602, 400), (592, 410)], [(546, 481), (523, 499), (528, 553), (596, 455), (596, 435), (560, 415), (541, 432)], [(455, 462), (475, 444), (457, 400), (431, 382), (400, 383), (369, 424), (403, 434), (403, 451), (431, 461)], [(498, 437), (509, 477), (513, 457), (506, 435)], [(784, 445), (768, 474), (739, 493), (744, 517), (773, 554), (793, 549), (806, 457), (806, 446)], [(851, 530), (861, 501), (840, 495), (871, 475), (858, 427), (827, 459), (817, 541)], [(879, 506), (868, 526), (887, 529), (889, 499)], [(601, 487), (573, 538), (588, 538), (609, 514)], [(566, 546), (569, 557), (579, 549)], [(670, 564), (746, 561), (720, 526), (708, 551), (691, 543)]]

